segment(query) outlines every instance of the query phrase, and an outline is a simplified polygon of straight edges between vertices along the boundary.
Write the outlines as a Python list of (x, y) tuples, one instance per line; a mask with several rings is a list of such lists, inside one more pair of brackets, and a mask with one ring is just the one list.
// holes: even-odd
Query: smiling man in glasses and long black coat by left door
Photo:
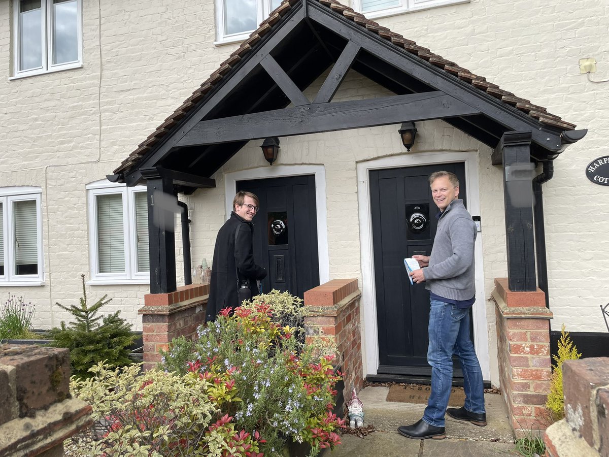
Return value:
[(267, 274), (266, 269), (254, 261), (252, 219), (258, 206), (255, 194), (239, 191), (233, 200), (230, 219), (218, 232), (205, 322), (214, 321), (224, 308), (241, 305), (237, 297), (238, 279), (249, 280), (252, 296), (258, 295), (256, 280), (264, 279)]

